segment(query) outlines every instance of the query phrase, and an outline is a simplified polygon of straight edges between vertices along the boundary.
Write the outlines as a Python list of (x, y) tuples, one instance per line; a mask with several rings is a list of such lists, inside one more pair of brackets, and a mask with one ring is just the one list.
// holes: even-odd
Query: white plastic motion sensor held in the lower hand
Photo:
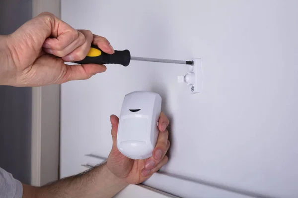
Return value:
[(152, 156), (158, 137), (161, 97), (148, 91), (127, 94), (119, 117), (117, 148), (131, 159)]

